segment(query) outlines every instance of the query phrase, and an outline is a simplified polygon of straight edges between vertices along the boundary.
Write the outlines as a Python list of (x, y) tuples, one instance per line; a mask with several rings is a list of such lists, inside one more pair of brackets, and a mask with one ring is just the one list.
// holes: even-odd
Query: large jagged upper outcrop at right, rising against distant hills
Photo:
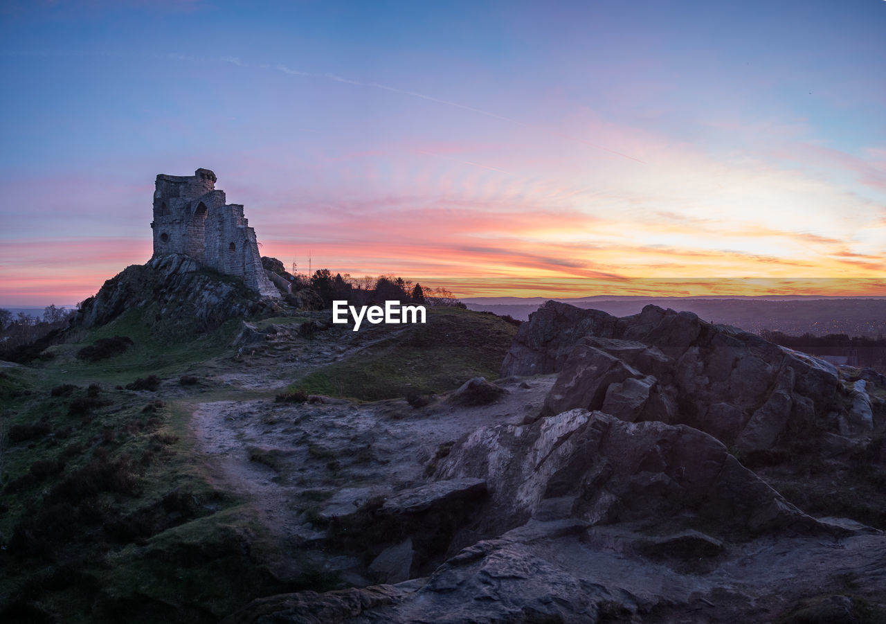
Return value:
[(541, 416), (600, 409), (691, 425), (745, 451), (815, 427), (874, 429), (864, 381), (853, 386), (815, 357), (655, 306), (616, 318), (548, 301), (521, 325), (501, 368), (532, 372), (559, 373)]

